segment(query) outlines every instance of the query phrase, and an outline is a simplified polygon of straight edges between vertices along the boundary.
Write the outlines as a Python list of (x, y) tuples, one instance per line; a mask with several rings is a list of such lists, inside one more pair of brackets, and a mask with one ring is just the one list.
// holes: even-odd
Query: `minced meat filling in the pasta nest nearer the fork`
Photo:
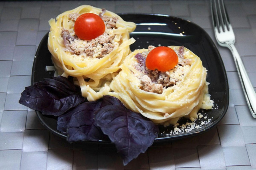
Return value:
[(157, 69), (150, 70), (146, 67), (145, 61), (148, 53), (154, 48), (154, 46), (150, 45), (148, 52), (145, 51), (135, 55), (138, 61), (135, 68), (140, 72), (137, 75), (141, 81), (140, 88), (144, 91), (161, 94), (164, 88), (171, 87), (182, 80), (182, 76), (188, 71), (192, 60), (184, 59), (184, 46), (182, 46), (178, 51), (175, 51), (179, 57), (179, 61), (173, 69), (166, 72), (158, 71)]

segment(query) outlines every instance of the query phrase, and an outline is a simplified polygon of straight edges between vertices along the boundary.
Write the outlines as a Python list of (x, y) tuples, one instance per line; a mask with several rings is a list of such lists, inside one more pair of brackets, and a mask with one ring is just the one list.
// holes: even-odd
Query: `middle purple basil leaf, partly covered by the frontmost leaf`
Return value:
[(67, 134), (68, 142), (102, 140), (104, 134), (94, 123), (94, 111), (101, 102), (85, 102), (58, 117), (57, 130)]

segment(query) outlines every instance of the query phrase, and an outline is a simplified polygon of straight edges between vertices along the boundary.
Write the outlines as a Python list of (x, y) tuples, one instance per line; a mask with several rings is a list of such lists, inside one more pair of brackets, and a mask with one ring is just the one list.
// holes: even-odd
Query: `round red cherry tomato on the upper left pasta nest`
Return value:
[(74, 30), (80, 39), (92, 40), (105, 32), (105, 24), (100, 16), (85, 13), (76, 19)]

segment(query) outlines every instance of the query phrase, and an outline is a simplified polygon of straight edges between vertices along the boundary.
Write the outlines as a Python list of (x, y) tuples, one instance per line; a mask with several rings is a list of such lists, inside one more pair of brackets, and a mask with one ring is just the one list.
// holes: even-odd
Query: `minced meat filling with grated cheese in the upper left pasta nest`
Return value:
[[(106, 11), (102, 9), (102, 12), (100, 12), (99, 16), (104, 21), (107, 29), (102, 35), (92, 40), (81, 40), (74, 34), (74, 30), (63, 28), (61, 36), (66, 47), (64, 50), (76, 55), (82, 55), (83, 57), (88, 56), (92, 58), (101, 58), (113, 51), (114, 44), (112, 42), (115, 35), (110, 34), (108, 29), (116, 28), (118, 17), (105, 16), (105, 12)], [(78, 16), (80, 16), (80, 14), (72, 13), (69, 14), (68, 17), (70, 22), (75, 22)]]

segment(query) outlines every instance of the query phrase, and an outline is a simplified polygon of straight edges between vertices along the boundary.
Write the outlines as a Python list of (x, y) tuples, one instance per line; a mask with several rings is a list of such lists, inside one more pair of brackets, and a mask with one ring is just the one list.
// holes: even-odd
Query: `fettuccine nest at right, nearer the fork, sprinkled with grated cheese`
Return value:
[[(169, 46), (178, 51), (178, 46)], [(137, 53), (148, 49), (137, 49), (124, 60), (120, 73), (110, 84), (114, 91), (111, 95), (117, 97), (128, 109), (141, 113), (156, 124), (175, 125), (181, 117), (194, 121), (198, 118), (199, 109), (212, 109), (213, 101), (208, 94), (206, 82), (207, 70), (201, 59), (187, 48), (184, 48), (184, 58), (192, 60), (188, 70), (182, 75), (181, 81), (171, 87), (164, 88), (161, 94), (144, 91), (140, 71), (136, 69)]]

